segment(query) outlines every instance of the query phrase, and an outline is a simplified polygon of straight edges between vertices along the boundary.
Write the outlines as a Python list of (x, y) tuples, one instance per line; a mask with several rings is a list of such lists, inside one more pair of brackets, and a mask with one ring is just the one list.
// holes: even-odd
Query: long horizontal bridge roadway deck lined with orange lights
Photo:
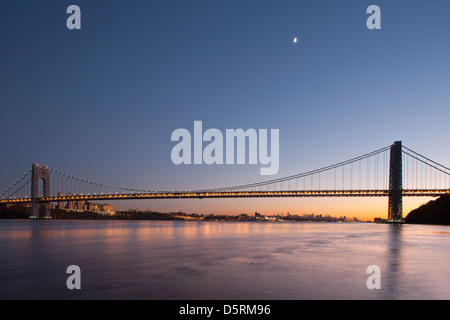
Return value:
[[(402, 190), (404, 197), (438, 197), (448, 189)], [(132, 199), (205, 199), (205, 198), (282, 198), (282, 197), (387, 197), (389, 190), (309, 190), (309, 191), (178, 191), (135, 194), (93, 194), (40, 198), (39, 202), (101, 201)], [(29, 203), (31, 198), (3, 199), (0, 204)]]

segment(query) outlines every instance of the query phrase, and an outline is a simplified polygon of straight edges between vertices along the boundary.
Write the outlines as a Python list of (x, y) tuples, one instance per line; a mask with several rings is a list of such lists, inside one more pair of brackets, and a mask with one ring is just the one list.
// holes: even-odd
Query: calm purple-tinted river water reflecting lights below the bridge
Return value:
[(450, 299), (450, 227), (0, 220), (0, 299)]

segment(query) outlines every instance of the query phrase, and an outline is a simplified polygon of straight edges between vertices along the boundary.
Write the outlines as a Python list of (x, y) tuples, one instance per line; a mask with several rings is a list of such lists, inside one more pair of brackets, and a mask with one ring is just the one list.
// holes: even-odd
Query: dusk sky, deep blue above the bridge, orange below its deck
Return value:
[[(81, 29), (69, 30), (69, 5)], [(381, 29), (369, 30), (370, 5)], [(265, 180), (175, 165), (178, 128), (279, 129), (279, 178), (403, 144), (450, 164), (450, 2), (2, 1), (0, 189), (32, 163), (136, 189)], [(293, 43), (294, 37), (298, 42)], [(429, 199), (405, 200), (405, 212)], [(118, 208), (387, 216), (387, 199), (115, 202)]]

